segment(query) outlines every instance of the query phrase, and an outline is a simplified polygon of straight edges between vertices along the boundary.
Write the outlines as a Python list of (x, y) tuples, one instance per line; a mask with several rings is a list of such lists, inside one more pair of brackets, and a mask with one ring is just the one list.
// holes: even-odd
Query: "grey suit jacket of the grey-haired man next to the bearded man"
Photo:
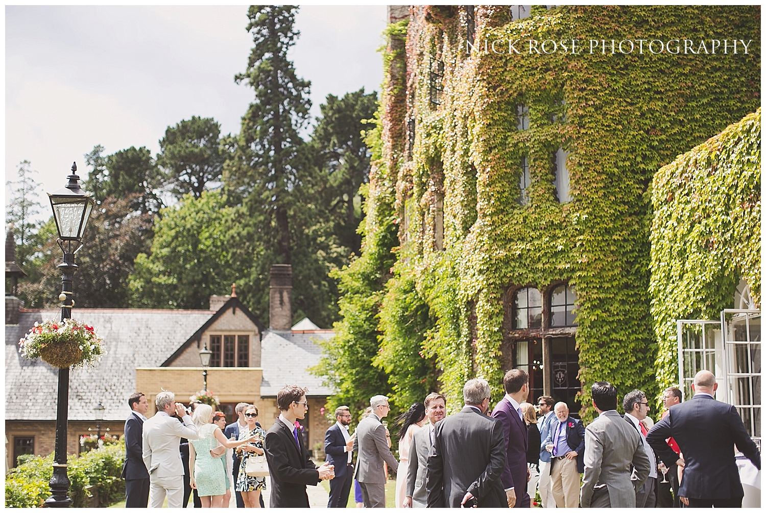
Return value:
[(385, 427), (375, 414), (363, 418), (356, 427), (354, 452), (358, 455), (354, 475), (358, 482), (385, 485), (387, 476), (383, 462), (388, 463), (388, 468), (394, 472), (399, 468), (399, 462), (385, 441)]

